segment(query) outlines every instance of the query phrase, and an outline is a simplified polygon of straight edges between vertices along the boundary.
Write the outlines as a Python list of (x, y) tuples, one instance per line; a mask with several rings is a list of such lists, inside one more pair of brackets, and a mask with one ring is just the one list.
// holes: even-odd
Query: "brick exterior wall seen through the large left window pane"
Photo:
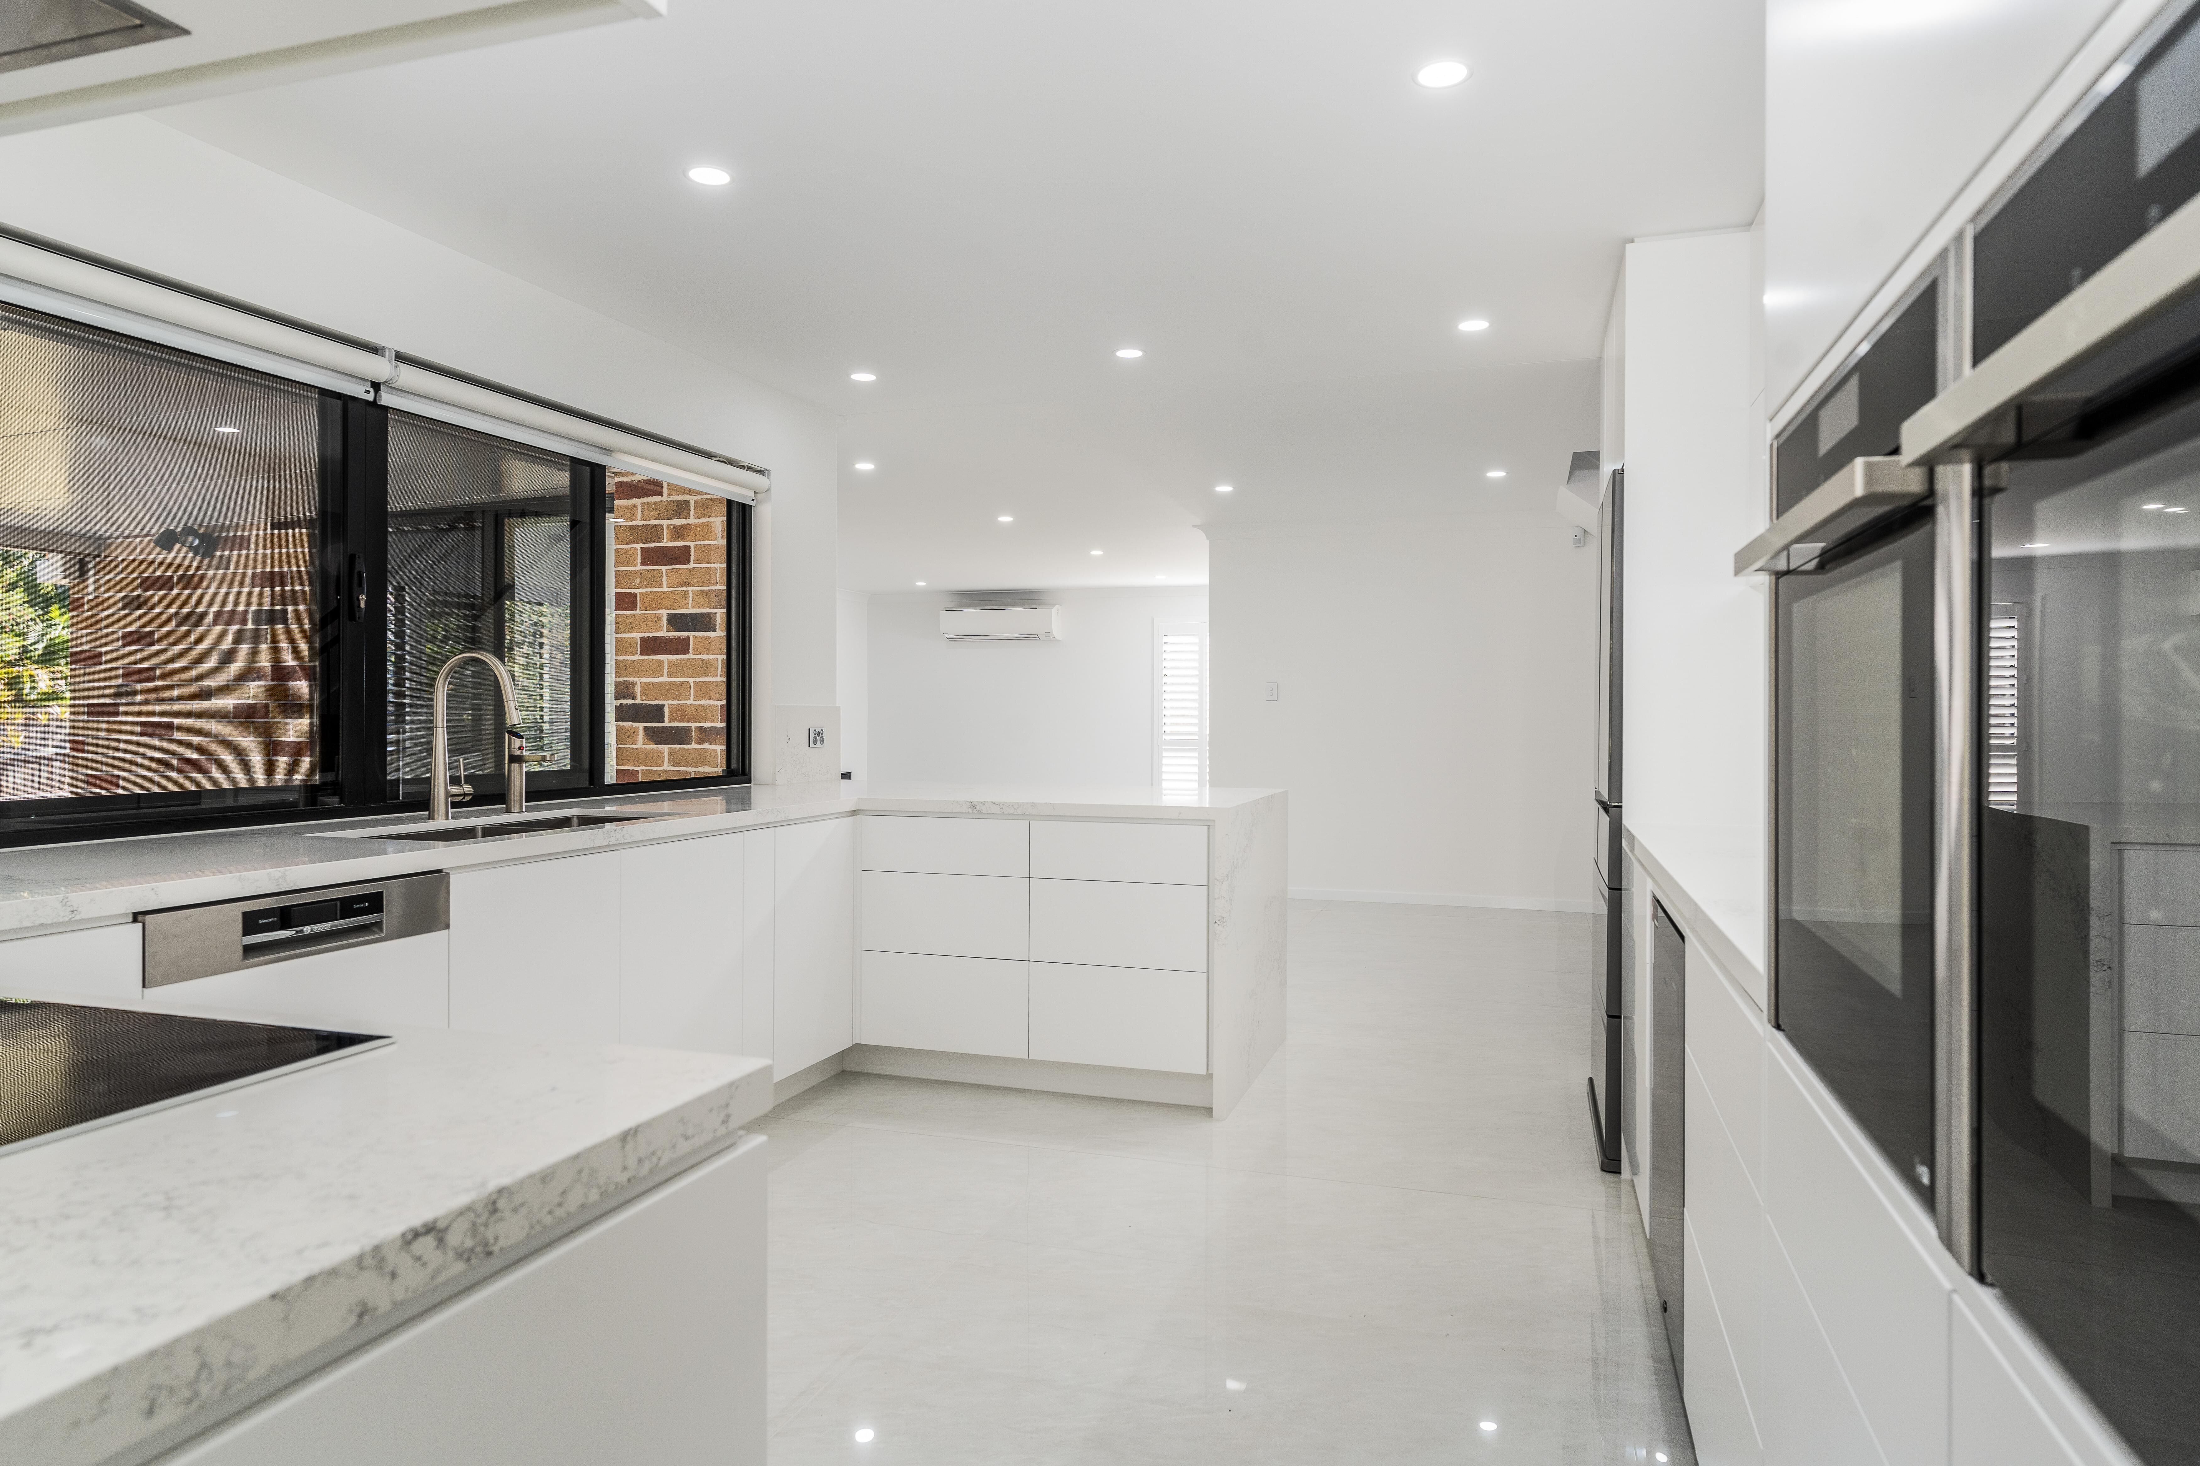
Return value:
[(68, 789), (312, 782), (312, 525), (220, 530), (218, 554), (108, 541), (68, 587)]

